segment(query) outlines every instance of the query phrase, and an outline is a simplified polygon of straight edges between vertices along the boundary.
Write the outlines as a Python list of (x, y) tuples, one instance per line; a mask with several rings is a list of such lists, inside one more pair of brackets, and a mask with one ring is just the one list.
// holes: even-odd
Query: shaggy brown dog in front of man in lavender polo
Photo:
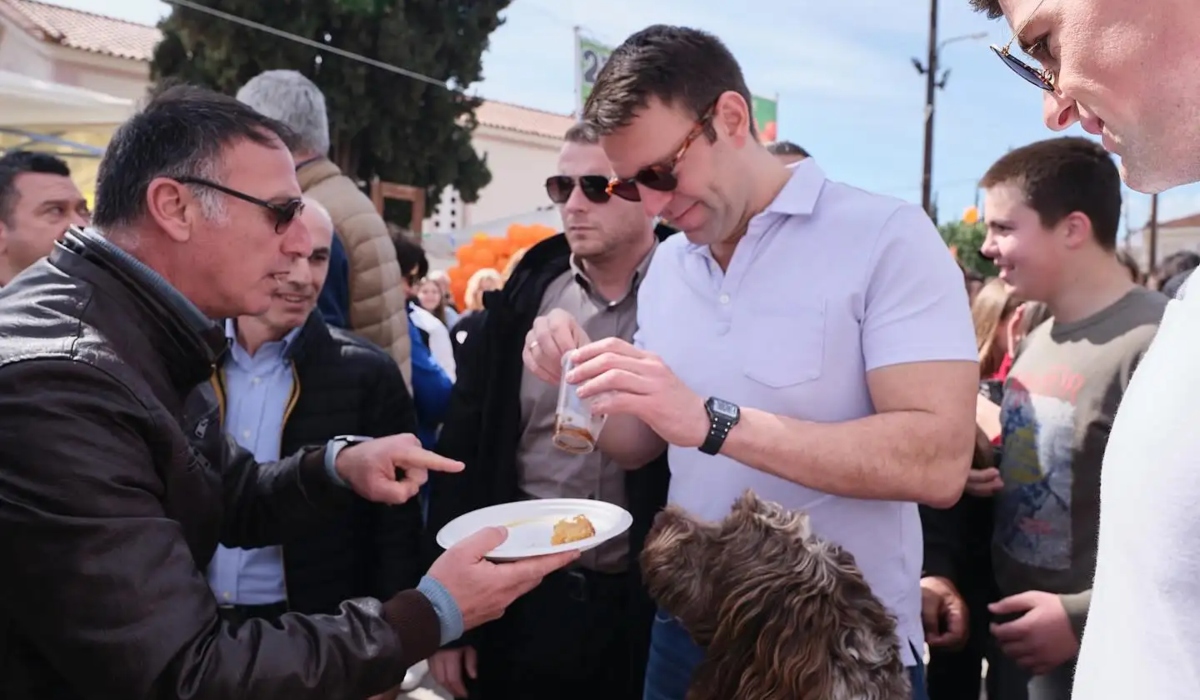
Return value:
[(716, 523), (672, 505), (641, 563), (654, 599), (707, 647), (688, 700), (912, 698), (895, 621), (803, 513), (751, 491)]

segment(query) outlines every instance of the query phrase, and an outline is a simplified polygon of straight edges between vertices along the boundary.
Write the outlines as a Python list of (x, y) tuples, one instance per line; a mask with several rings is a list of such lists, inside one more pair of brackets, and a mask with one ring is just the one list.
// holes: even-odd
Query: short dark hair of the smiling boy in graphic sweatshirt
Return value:
[(980, 180), (984, 189), (1015, 185), (1025, 203), (1051, 227), (1074, 211), (1092, 222), (1092, 235), (1104, 250), (1117, 245), (1121, 226), (1121, 173), (1100, 144), (1067, 136), (1031, 143), (996, 161)]

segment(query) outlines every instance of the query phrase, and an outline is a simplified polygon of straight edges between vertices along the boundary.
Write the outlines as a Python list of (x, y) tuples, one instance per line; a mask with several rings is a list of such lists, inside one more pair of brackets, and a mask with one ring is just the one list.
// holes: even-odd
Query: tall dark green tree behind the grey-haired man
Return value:
[[(198, 1), (464, 89), (482, 77), (488, 36), (511, 0)], [(232, 95), (265, 70), (310, 77), (325, 94), (330, 157), (350, 177), (416, 185), (431, 203), (448, 185), (474, 202), (492, 179), (470, 145), (479, 100), (179, 6), (160, 28), (156, 82)]]

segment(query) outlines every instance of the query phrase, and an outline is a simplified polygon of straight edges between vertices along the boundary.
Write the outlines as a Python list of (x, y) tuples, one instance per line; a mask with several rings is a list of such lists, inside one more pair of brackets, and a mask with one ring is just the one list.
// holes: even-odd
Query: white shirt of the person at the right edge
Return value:
[(1074, 700), (1200, 698), (1200, 287), (1187, 287), (1109, 435)]

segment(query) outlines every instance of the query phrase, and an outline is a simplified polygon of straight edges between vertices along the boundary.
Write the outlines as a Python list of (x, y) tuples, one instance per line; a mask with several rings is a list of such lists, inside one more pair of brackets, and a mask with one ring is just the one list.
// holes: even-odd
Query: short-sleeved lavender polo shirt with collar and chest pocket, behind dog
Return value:
[[(708, 246), (661, 243), (637, 325), (635, 342), (701, 396), (820, 423), (874, 413), (871, 370), (978, 359), (962, 273), (924, 211), (829, 181), (812, 158), (750, 221), (727, 271)], [(806, 510), (922, 648), (916, 504), (832, 496), (695, 448), (668, 459), (670, 501), (700, 517), (724, 517), (748, 487)], [(901, 656), (916, 664), (907, 644)]]

